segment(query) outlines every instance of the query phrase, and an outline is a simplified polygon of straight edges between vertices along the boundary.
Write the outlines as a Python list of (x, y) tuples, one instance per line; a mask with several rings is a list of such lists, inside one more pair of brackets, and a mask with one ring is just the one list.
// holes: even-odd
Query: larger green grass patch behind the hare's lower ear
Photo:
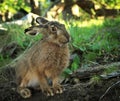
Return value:
[(5, 28), (8, 29), (8, 40), (9, 42), (16, 42), (19, 46), (21, 46), (23, 49), (26, 49), (27, 47), (30, 47), (32, 43), (39, 40), (41, 38), (41, 34), (38, 36), (30, 36), (26, 35), (24, 33), (24, 29), (26, 26), (20, 26), (17, 24), (10, 24), (10, 25), (4, 25)]

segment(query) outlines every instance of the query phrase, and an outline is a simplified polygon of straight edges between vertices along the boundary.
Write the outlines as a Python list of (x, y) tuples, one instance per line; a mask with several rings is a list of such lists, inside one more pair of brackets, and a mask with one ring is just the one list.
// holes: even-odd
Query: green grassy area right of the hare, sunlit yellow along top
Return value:
[(66, 24), (72, 37), (71, 52), (77, 50), (82, 54), (78, 54), (80, 61), (74, 59), (70, 70), (67, 69), (66, 72), (71, 73), (78, 69), (80, 64), (88, 68), (91, 64), (105, 64), (120, 60), (120, 17), (72, 22)]

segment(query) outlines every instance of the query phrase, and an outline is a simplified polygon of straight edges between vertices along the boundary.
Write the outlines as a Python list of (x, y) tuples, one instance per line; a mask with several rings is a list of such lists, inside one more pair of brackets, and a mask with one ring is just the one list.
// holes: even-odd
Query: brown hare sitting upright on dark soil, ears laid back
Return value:
[(70, 35), (64, 24), (36, 18), (38, 25), (25, 29), (26, 34), (43, 34), (43, 38), (23, 53), (16, 62), (17, 92), (23, 98), (32, 94), (29, 87), (41, 89), (47, 96), (63, 92), (59, 75), (69, 65)]

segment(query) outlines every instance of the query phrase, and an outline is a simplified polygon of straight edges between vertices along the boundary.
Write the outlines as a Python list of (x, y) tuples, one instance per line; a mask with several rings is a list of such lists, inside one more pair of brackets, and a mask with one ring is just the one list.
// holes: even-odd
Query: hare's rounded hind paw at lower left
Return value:
[(30, 89), (28, 88), (18, 88), (18, 93), (25, 99), (32, 95)]

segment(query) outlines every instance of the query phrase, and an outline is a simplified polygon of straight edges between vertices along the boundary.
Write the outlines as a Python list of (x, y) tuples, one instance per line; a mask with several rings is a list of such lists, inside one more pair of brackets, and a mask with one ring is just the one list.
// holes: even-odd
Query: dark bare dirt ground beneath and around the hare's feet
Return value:
[(90, 83), (90, 80), (80, 81), (77, 84), (63, 83), (65, 91), (53, 97), (45, 96), (41, 91), (33, 91), (32, 97), (22, 99), (15, 91), (12, 82), (14, 69), (7, 68), (2, 70), (0, 76), (0, 101), (120, 101), (120, 82), (112, 87), (107, 94), (100, 100), (100, 97), (114, 83), (120, 80), (119, 77), (102, 80), (98, 84)]

